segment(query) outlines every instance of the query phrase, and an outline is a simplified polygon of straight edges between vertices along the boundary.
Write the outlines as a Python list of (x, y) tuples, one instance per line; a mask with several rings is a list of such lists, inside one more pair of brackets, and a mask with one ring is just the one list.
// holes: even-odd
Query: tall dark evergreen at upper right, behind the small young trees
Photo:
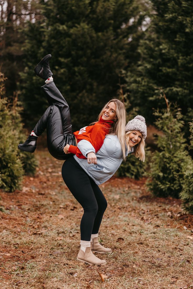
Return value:
[[(193, 117), (192, 0), (151, 0), (151, 22), (139, 45), (140, 60), (128, 72), (132, 106), (154, 121), (152, 108), (165, 106), (160, 91), (181, 108), (183, 120)], [(188, 132), (188, 126), (185, 128)]]

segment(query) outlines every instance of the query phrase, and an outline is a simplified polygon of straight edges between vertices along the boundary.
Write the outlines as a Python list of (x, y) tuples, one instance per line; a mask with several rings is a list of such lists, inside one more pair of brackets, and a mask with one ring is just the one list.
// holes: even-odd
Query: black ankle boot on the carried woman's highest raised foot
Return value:
[(44, 80), (48, 79), (50, 76), (53, 75), (49, 67), (49, 60), (51, 59), (51, 57), (51, 54), (44, 56), (44, 58), (42, 58), (42, 60), (34, 68), (35, 74), (43, 78)]

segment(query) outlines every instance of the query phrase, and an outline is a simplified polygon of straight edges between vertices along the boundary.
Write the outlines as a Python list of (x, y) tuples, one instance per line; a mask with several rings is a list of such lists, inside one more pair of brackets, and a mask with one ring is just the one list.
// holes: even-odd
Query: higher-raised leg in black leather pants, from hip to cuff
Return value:
[(41, 87), (46, 95), (49, 105), (56, 105), (61, 114), (63, 123), (63, 134), (72, 134), (72, 124), (70, 117), (70, 110), (64, 97), (56, 87), (54, 81), (49, 82)]

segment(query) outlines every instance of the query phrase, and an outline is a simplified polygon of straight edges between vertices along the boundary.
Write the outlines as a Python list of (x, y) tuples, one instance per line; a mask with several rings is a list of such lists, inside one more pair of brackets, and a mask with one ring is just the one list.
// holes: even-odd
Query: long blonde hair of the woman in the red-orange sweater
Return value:
[(102, 108), (98, 119), (101, 118), (104, 109), (110, 102), (114, 102), (116, 105), (116, 121), (113, 123), (113, 127), (110, 129), (109, 134), (115, 134), (120, 141), (122, 152), (123, 152), (123, 160), (126, 160), (126, 151), (125, 151), (125, 125), (126, 125), (126, 110), (124, 104), (119, 99), (111, 99), (107, 102)]

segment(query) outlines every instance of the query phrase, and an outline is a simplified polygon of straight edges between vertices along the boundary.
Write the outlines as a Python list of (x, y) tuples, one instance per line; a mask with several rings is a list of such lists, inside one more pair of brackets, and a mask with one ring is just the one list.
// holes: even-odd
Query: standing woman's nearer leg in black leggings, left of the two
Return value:
[(90, 241), (98, 204), (91, 186), (91, 179), (74, 158), (64, 162), (62, 177), (65, 184), (84, 209), (80, 223), (81, 240)]

